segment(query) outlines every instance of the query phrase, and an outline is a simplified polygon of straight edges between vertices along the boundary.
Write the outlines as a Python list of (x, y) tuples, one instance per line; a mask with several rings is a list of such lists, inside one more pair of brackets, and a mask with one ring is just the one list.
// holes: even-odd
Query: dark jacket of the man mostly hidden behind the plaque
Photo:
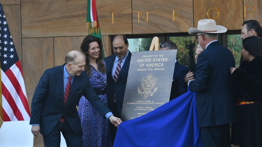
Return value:
[(188, 71), (189, 69), (187, 67), (180, 64), (178, 61), (175, 62), (175, 69), (169, 101), (187, 92), (187, 85), (184, 82), (184, 78)]

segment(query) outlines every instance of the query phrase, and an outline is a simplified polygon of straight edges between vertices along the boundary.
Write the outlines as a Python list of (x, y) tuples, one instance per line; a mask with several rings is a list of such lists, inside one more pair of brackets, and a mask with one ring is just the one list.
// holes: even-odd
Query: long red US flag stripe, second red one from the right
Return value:
[[(14, 65), (15, 65), (15, 64), (14, 64)], [(15, 71), (15, 70), (14, 70), (14, 71)], [(14, 73), (11, 71), (11, 68), (9, 68), (5, 73), (6, 73), (7, 78), (10, 80), (10, 82), (11, 82), (12, 85), (14, 86), (15, 91), (17, 92), (18, 96), (20, 97), (24, 108), (27, 108), (27, 109), (26, 109), (27, 114), (30, 115), (29, 108), (26, 107), (26, 106), (28, 105), (27, 98), (26, 98), (26, 96), (24, 95), (23, 90), (22, 90), (22, 88), (21, 88), (18, 80), (16, 79), (16, 76), (15, 76)]]

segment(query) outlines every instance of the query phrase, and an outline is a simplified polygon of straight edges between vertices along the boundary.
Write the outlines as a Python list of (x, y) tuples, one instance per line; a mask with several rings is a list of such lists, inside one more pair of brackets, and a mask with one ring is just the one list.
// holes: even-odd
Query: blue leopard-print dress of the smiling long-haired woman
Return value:
[[(103, 63), (105, 65), (104, 61)], [(99, 66), (98, 63), (97, 66)], [(92, 88), (94, 90), (105, 90), (107, 83), (106, 73), (103, 74), (100, 70), (96, 71), (95, 67), (91, 65), (90, 67), (92, 75), (90, 76), (90, 83)], [(107, 95), (105, 93), (98, 96), (107, 104)], [(83, 146), (111, 147), (109, 121), (104, 119), (84, 96), (81, 97), (78, 108), (83, 132)]]

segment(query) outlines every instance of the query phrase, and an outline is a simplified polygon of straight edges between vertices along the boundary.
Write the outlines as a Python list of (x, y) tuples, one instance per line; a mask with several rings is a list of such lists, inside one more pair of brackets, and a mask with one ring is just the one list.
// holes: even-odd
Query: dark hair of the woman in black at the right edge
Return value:
[(243, 47), (250, 55), (262, 57), (262, 40), (256, 36), (247, 37), (242, 41)]

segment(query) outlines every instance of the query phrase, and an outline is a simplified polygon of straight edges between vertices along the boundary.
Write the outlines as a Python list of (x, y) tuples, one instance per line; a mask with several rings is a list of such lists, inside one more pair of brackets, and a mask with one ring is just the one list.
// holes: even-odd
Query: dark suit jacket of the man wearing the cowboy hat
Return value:
[(190, 81), (189, 88), (196, 92), (197, 117), (200, 127), (235, 121), (231, 67), (235, 67), (234, 57), (231, 51), (218, 41), (209, 44), (198, 55), (196, 79)]

